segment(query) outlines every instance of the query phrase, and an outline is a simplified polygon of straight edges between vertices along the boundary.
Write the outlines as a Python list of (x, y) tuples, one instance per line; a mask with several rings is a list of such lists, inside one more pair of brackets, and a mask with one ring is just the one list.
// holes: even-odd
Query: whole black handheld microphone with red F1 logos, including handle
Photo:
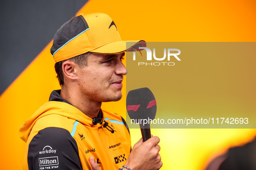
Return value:
[(156, 99), (149, 88), (138, 88), (128, 92), (126, 110), (133, 123), (139, 123), (143, 142), (151, 138), (149, 120), (156, 116)]

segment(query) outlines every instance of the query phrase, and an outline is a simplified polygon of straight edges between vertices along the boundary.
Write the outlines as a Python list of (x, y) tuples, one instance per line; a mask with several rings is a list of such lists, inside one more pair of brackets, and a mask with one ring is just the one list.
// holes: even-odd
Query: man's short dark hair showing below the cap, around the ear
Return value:
[[(73, 61), (74, 63), (77, 63), (79, 67), (83, 68), (84, 66), (87, 66), (87, 58), (90, 54), (91, 54), (90, 52), (87, 52), (79, 56), (72, 57), (68, 60)], [(59, 61), (58, 63), (55, 63), (55, 72), (57, 73), (57, 78), (60, 85), (64, 85), (62, 64), (68, 60), (63, 60), (63, 61)]]

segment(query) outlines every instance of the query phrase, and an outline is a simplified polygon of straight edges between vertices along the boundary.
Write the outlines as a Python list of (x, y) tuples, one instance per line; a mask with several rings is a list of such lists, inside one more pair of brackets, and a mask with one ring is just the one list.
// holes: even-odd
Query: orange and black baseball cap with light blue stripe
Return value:
[[(129, 46), (126, 43), (129, 42)], [(118, 54), (124, 51), (142, 50), (143, 40), (122, 41), (113, 20), (104, 13), (76, 16), (65, 22), (53, 38), (51, 54), (55, 62), (87, 52)]]

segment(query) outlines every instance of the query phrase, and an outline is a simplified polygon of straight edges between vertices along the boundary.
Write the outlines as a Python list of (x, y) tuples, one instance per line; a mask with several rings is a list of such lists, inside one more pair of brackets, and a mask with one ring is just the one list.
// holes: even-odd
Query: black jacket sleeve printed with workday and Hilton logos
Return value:
[(29, 170), (82, 170), (78, 145), (66, 129), (42, 129), (29, 143)]

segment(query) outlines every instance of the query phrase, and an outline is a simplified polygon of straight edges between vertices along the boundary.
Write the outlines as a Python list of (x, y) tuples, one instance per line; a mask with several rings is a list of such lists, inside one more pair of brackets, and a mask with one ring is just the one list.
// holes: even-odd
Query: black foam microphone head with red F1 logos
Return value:
[(156, 98), (149, 88), (131, 90), (126, 97), (126, 110), (131, 120), (153, 120), (156, 116)]

